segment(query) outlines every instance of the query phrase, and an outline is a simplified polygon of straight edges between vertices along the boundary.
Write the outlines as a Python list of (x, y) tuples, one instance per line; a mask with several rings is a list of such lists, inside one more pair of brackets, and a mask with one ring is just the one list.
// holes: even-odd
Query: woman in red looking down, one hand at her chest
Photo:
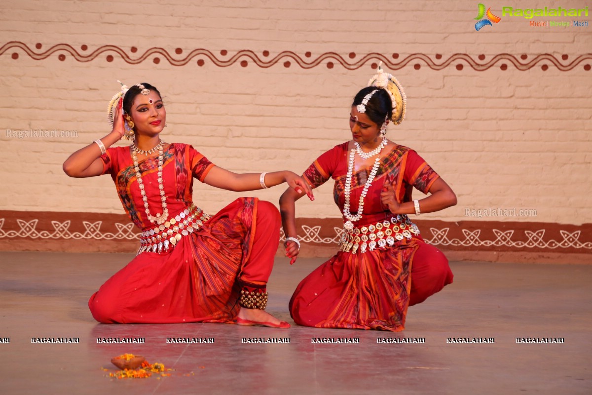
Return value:
[[(406, 97), (390, 74), (378, 69), (353, 99), (352, 140), (323, 153), (304, 172), (316, 188), (335, 180), (333, 197), (343, 213), (340, 251), (303, 281), (289, 309), (297, 324), (349, 329), (404, 329), (407, 307), (452, 282), (448, 260), (426, 244), (408, 214), (432, 213), (456, 204), (456, 195), (414, 150), (386, 139), (387, 125), (403, 121)], [(413, 200), (413, 187), (430, 194)], [(294, 263), (294, 202), (286, 190), (280, 210)]]

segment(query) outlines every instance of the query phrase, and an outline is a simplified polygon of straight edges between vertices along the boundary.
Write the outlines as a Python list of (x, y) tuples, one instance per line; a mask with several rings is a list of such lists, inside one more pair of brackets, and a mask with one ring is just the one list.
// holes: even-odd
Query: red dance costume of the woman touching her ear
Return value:
[[(142, 247), (88, 302), (102, 323), (231, 322), (240, 291), (262, 290), (279, 242), (279, 213), (269, 202), (239, 198), (214, 216), (192, 204), (193, 178), (204, 181), (214, 164), (187, 144), (163, 152), (163, 185), (169, 220), (150, 223), (130, 147), (101, 156), (121, 203), (143, 230)], [(139, 163), (150, 214), (162, 212), (158, 159)], [(152, 230), (152, 232), (151, 232)], [(156, 232), (154, 232), (156, 230)]]

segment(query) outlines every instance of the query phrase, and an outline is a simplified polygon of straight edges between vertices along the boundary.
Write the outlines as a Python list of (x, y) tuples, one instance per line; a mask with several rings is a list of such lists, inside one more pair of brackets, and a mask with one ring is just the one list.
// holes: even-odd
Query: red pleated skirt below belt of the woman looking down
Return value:
[[(411, 276), (416, 255), (422, 262)], [(299, 325), (398, 332), (410, 302), (420, 303), (452, 278), (442, 252), (416, 238), (365, 253), (339, 252), (298, 284), (290, 314)]]

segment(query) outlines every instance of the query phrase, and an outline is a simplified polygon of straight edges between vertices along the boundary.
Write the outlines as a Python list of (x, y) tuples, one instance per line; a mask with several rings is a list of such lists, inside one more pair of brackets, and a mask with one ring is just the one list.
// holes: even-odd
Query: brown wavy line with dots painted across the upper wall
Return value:
[[(14, 60), (18, 60), (22, 54), (34, 60), (44, 60), (57, 56), (57, 59), (62, 62), (68, 59), (68, 57), (73, 58), (76, 62), (112, 62), (115, 60), (115, 57), (120, 57), (120, 59), (130, 65), (137, 65), (143, 62), (158, 64), (166, 61), (173, 66), (185, 66), (190, 63), (197, 66), (204, 66), (208, 62), (217, 67), (229, 67), (239, 63), (242, 67), (257, 66), (259, 68), (270, 68), (275, 65), (282, 65), (285, 68), (295, 66), (302, 69), (316, 67), (332, 69), (335, 66), (342, 66), (348, 70), (356, 70), (368, 64), (372, 68), (377, 68), (378, 62), (382, 62), (385, 68), (391, 70), (400, 70), (406, 67), (413, 67), (419, 70), (426, 66), (432, 70), (442, 70), (449, 67), (462, 70), (468, 66), (476, 71), (485, 71), (491, 68), (507, 70), (512, 66), (520, 71), (537, 67), (540, 67), (544, 71), (548, 70), (550, 66), (554, 66), (560, 71), (570, 71), (575, 68), (583, 68), (585, 71), (590, 71), (590, 63), (592, 63), (592, 53), (580, 54), (578, 56), (563, 54), (561, 55), (561, 59), (548, 53), (521, 54), (519, 56), (509, 53), (500, 53), (494, 56), (479, 54), (475, 56), (476, 59), (473, 59), (471, 55), (466, 53), (455, 53), (447, 59), (444, 59), (442, 54), (435, 54), (434, 59), (432, 59), (430, 55), (423, 53), (402, 56), (398, 53), (368, 53), (361, 55), (350, 52), (342, 56), (335, 52), (325, 52), (313, 56), (311, 52), (306, 52), (301, 56), (292, 51), (282, 51), (272, 56), (269, 51), (263, 51), (258, 54), (252, 50), (240, 50), (234, 54), (230, 54), (227, 50), (213, 52), (207, 49), (193, 49), (187, 52), (181, 48), (176, 48), (172, 52), (174, 54), (169, 53), (166, 49), (153, 47), (140, 54), (136, 47), (125, 50), (113, 45), (104, 45), (92, 51), (86, 45), (80, 46), (79, 50), (77, 50), (70, 44), (56, 44), (49, 47), (49, 49), (44, 49), (43, 44), (37, 43), (34, 45), (34, 48), (30, 48), (27, 44), (20, 41), (9, 41), (0, 47), (0, 56), (11, 54)], [(183, 56), (184, 54), (185, 56)]]

